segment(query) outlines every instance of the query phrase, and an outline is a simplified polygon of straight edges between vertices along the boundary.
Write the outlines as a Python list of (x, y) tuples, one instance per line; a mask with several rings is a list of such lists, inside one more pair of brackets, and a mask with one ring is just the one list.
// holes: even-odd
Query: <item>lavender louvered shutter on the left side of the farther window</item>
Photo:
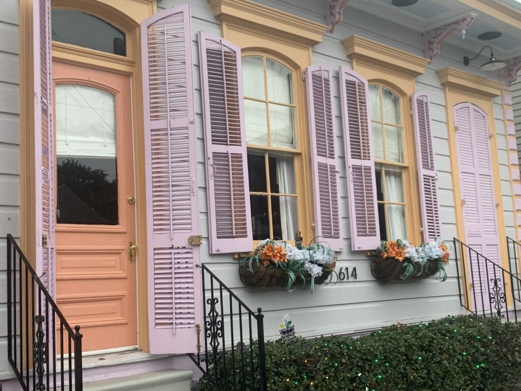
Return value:
[(348, 177), (349, 219), (353, 250), (380, 245), (369, 87), (367, 80), (346, 67), (339, 68), (345, 165)]

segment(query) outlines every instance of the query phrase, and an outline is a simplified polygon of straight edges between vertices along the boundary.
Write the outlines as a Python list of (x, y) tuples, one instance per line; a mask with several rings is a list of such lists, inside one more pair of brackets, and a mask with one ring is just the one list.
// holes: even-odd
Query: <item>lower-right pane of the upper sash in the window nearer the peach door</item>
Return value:
[(269, 104), (271, 146), (296, 148), (295, 113), (293, 107)]

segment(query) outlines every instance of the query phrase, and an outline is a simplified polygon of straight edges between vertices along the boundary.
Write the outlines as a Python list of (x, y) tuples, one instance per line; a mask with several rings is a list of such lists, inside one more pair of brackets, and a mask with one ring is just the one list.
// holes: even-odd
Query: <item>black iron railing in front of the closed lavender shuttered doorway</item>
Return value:
[(456, 238), (454, 256), (461, 305), (476, 315), (517, 322), (517, 309), (521, 306), (515, 287), (521, 284), (519, 277)]

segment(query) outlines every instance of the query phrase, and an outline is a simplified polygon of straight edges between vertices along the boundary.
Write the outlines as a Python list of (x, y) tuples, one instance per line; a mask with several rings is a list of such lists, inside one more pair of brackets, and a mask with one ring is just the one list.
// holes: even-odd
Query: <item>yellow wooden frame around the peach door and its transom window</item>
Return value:
[[(19, 164), (20, 244), (28, 259), (34, 262), (36, 243), (32, 3), (33, 0), (19, 0)], [(145, 176), (144, 171), (138, 169), (144, 167), (145, 161), (140, 24), (156, 13), (156, 0), (53, 0), (53, 8), (74, 9), (97, 16), (126, 34), (126, 57), (53, 41), (52, 60), (114, 71), (131, 78), (135, 224), (138, 245), (138, 346), (148, 351)]]

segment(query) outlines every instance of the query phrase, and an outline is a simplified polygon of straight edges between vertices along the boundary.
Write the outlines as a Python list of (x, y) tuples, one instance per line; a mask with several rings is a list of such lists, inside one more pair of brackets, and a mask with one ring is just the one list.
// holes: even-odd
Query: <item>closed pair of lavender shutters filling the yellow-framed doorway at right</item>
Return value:
[[(454, 106), (454, 121), (457, 127), (456, 143), (465, 241), (468, 246), (499, 265), (499, 235), (495, 216), (487, 115), (473, 104), (461, 103)], [(488, 310), (489, 289), (493, 286), (490, 279), (494, 276), (494, 268), (477, 257), (467, 261), (470, 262), (469, 271), (475, 281), (471, 297), (475, 298), (476, 309)], [(488, 270), (485, 270), (486, 266)], [(496, 268), (495, 272), (501, 274), (499, 268)], [(501, 275), (495, 277), (501, 278)], [(502, 283), (499, 285), (503, 286)]]

